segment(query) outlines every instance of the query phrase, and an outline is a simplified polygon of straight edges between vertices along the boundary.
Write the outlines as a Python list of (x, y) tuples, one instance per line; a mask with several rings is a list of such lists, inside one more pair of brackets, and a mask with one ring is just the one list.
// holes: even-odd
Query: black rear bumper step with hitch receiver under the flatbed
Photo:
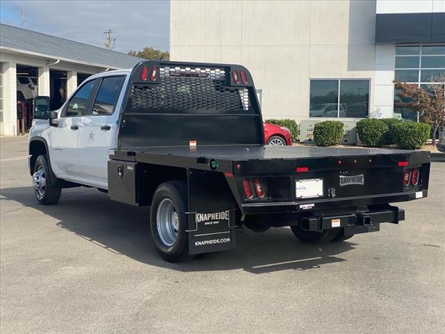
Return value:
[(385, 209), (369, 212), (354, 212), (329, 216), (309, 216), (301, 218), (300, 226), (303, 230), (321, 232), (332, 228), (344, 228), (344, 234), (377, 232), (380, 223), (398, 223), (405, 220), (405, 210), (390, 205)]

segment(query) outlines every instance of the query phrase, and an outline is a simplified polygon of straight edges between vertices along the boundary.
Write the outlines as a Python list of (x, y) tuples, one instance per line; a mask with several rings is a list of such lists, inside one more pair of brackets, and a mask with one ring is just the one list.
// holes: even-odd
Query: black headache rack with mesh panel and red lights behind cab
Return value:
[(130, 80), (119, 149), (264, 143), (254, 83), (241, 65), (143, 61)]

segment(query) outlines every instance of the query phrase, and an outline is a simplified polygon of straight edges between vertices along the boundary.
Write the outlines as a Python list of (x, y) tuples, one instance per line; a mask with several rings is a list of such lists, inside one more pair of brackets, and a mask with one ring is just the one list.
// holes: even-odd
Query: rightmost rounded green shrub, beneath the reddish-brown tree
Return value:
[(431, 126), (426, 123), (400, 122), (394, 125), (396, 145), (405, 150), (415, 150), (430, 138)]

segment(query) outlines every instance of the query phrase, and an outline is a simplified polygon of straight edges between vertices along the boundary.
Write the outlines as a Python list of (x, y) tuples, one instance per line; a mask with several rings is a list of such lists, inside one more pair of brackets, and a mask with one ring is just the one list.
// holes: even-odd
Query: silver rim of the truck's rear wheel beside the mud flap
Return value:
[(169, 198), (164, 198), (156, 212), (156, 227), (165, 246), (175, 244), (179, 231), (179, 217), (175, 205)]

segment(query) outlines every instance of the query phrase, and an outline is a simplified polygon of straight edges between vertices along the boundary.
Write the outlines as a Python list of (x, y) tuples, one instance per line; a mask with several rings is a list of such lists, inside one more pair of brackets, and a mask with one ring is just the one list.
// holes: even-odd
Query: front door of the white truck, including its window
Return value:
[(99, 79), (85, 82), (65, 103), (58, 127), (51, 127), (51, 167), (59, 177), (79, 177), (79, 129), (81, 116), (91, 107)]

